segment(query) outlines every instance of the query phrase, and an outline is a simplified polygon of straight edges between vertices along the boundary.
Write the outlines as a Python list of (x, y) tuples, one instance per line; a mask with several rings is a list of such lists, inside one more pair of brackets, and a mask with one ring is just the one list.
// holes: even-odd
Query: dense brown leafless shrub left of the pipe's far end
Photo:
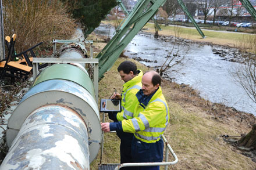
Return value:
[(5, 0), (3, 27), (5, 36), (16, 33), (15, 50), (22, 52), (38, 42), (69, 37), (74, 20), (66, 13), (67, 7), (59, 0)]

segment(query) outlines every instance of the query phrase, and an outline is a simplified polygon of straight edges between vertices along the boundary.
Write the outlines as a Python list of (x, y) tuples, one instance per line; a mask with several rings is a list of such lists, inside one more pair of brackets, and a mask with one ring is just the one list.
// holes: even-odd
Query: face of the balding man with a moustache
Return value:
[(154, 93), (159, 87), (159, 84), (155, 86), (152, 84), (152, 76), (150, 74), (143, 75), (141, 83), (142, 83), (141, 89), (143, 90), (143, 93), (146, 96)]

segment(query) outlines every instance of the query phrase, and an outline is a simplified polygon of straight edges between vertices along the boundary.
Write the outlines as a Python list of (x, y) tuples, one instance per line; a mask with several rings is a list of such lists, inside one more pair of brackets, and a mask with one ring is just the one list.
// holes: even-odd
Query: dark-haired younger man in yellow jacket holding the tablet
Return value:
[[(136, 64), (130, 61), (122, 62), (118, 67), (118, 72), (121, 79), (125, 82), (123, 84), (122, 95), (114, 93), (111, 99), (122, 100), (122, 111), (119, 113), (109, 113), (109, 118), (113, 121), (122, 121), (133, 118), (135, 106), (138, 104), (136, 93), (141, 89), (141, 78), (143, 73), (137, 70)], [(120, 143), (120, 162), (121, 164), (132, 162), (131, 160), (131, 140), (133, 133), (126, 133), (117, 131), (116, 135), (121, 140)], [(132, 169), (131, 167), (121, 168), (123, 170)]]

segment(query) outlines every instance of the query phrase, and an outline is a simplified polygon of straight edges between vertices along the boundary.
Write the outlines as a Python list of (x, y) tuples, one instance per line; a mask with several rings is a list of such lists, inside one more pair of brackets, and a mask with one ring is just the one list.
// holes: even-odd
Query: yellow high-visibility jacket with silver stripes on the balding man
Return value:
[(134, 118), (122, 121), (122, 128), (123, 132), (134, 133), (138, 140), (155, 143), (161, 139), (168, 122), (169, 108), (159, 86), (145, 108), (138, 104)]

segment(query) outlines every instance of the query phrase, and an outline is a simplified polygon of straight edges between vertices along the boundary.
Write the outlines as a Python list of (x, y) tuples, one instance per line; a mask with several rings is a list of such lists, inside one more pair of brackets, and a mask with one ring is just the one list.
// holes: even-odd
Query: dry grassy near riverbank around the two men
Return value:
[[(94, 45), (98, 51), (103, 48), (104, 39), (106, 37), (97, 38), (100, 43)], [(99, 82), (99, 99), (109, 97), (113, 88), (122, 91), (123, 82), (116, 68), (124, 60), (135, 62), (143, 71), (152, 69), (136, 60), (119, 58)], [(179, 158), (169, 169), (255, 169), (256, 163), (250, 157), (220, 136), (241, 136), (250, 132), (256, 121), (253, 114), (204, 100), (188, 85), (164, 80), (162, 89), (170, 108), (170, 122), (164, 135)], [(105, 119), (109, 121), (107, 116)], [(99, 155), (91, 169), (97, 169), (98, 162)], [(113, 133), (105, 133), (102, 162), (119, 162), (119, 139)]]

